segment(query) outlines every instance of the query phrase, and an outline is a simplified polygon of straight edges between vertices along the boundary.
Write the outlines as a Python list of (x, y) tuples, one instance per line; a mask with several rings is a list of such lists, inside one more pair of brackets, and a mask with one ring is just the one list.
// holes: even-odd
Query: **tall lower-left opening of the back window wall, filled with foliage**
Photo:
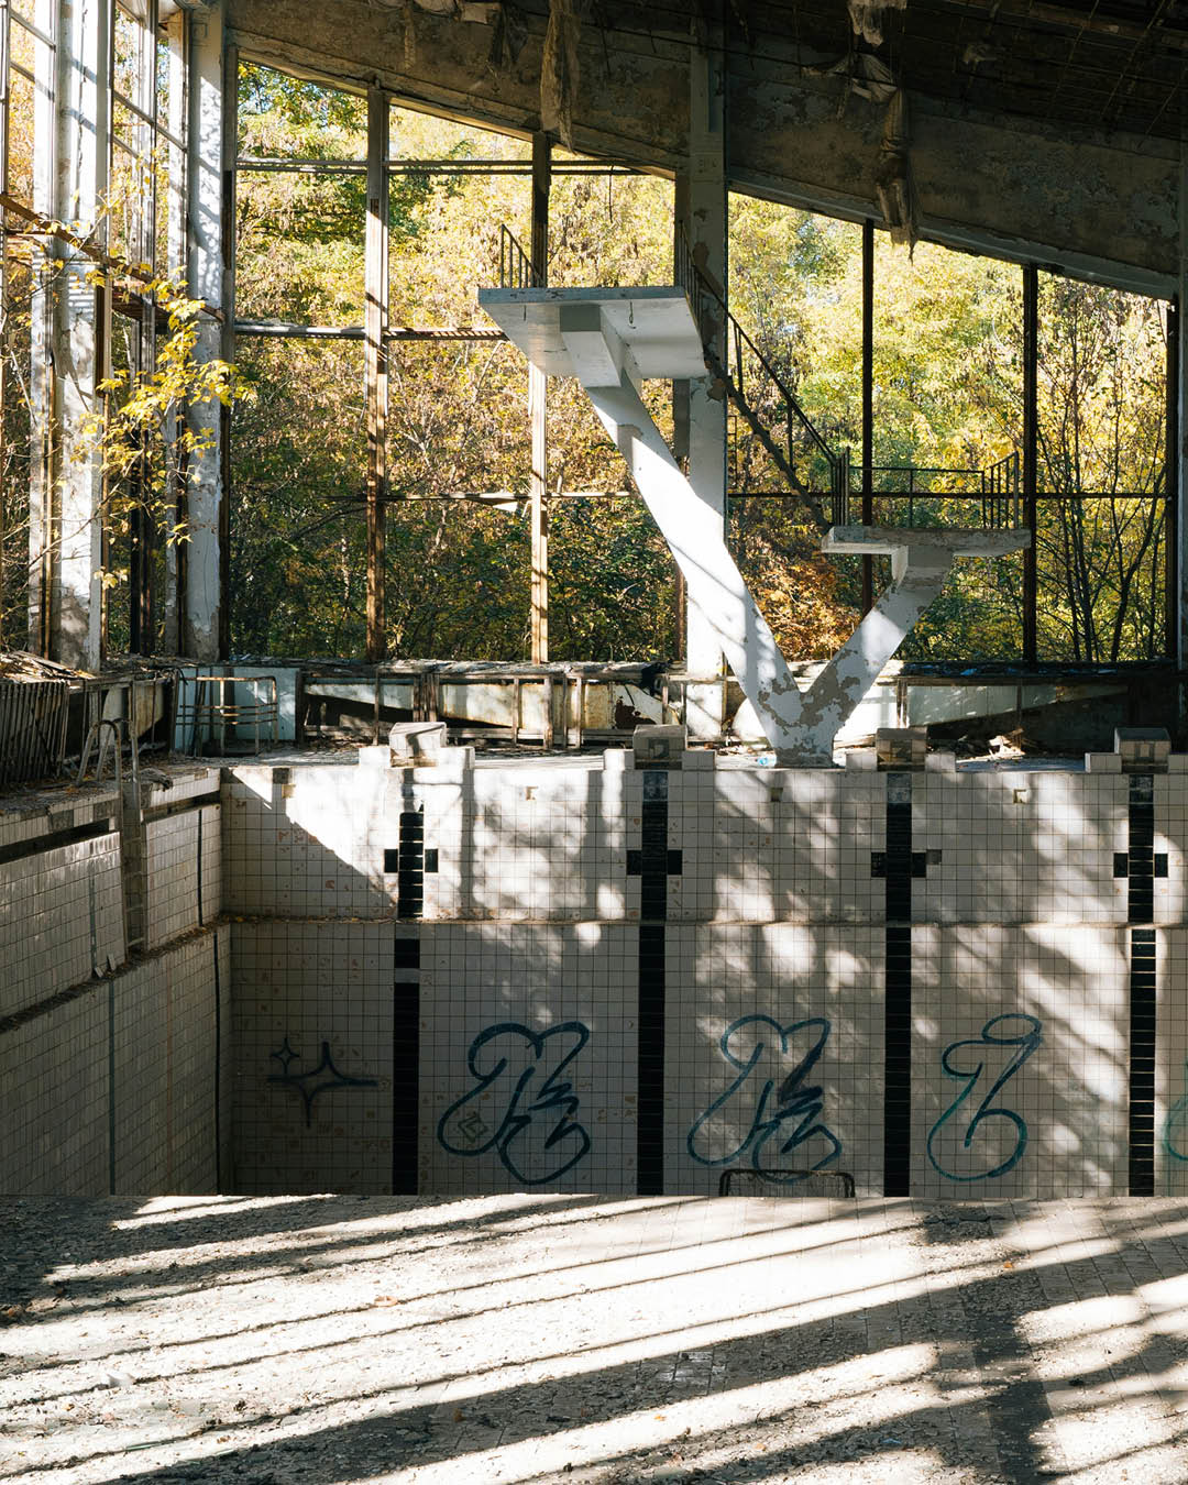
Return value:
[(232, 413), (232, 642), (257, 655), (362, 655), (362, 346), (242, 340), (238, 365), (257, 399)]

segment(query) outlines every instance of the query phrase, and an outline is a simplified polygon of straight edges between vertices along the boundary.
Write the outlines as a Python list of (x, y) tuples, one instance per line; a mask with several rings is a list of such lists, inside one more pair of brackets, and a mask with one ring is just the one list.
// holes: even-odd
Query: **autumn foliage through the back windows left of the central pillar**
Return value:
[[(244, 140), (260, 154), (310, 154), (342, 105), (247, 70)], [(392, 147), (407, 159), (515, 159), (514, 140), (394, 110)], [(337, 154), (327, 150), (328, 154)], [(325, 157), (325, 156), (324, 156)], [(340, 157), (340, 156), (339, 156)], [(239, 306), (244, 315), (359, 322), (362, 217), (328, 212), (306, 233), (301, 192), (346, 189), (294, 175), (241, 175)], [(499, 281), (499, 224), (527, 236), (524, 177), (392, 174), (394, 325), (472, 325), (475, 290)], [(609, 199), (609, 208), (607, 208)], [(551, 267), (628, 282), (671, 278), (671, 186), (558, 177)], [(279, 232), (279, 236), (278, 236)], [(582, 257), (575, 254), (581, 247)], [(244, 342), (257, 388), (233, 425), (233, 642), (270, 653), (358, 655), (365, 636), (362, 347)], [(527, 496), (527, 371), (505, 343), (391, 346), (386, 508), (388, 649), (396, 655), (520, 659), (529, 649), (526, 505), (492, 509), (465, 496)], [(656, 394), (661, 395), (661, 394)], [(662, 419), (667, 411), (659, 408)], [(549, 388), (551, 490), (622, 490), (622, 459), (572, 385)], [(676, 653), (673, 564), (639, 500), (554, 500), (551, 653)]]

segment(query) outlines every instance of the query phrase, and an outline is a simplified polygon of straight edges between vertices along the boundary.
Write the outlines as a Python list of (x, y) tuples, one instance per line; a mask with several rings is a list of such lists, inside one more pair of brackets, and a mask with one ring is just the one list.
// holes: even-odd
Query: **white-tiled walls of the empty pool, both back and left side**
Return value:
[(0, 1188), (1188, 1188), (1188, 774), (584, 765), (0, 815)]

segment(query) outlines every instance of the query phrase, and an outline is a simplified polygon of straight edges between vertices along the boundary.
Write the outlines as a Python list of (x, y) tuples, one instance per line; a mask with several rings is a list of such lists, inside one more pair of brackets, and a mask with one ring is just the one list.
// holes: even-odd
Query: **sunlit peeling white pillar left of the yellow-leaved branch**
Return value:
[[(79, 223), (82, 233), (95, 229), (107, 189), (108, 58), (108, 0), (61, 0), (53, 123), (45, 108), (34, 120), (34, 206)], [(92, 267), (68, 244), (48, 244), (34, 306), (43, 440), (30, 492), (30, 643), (94, 671), (101, 659), (102, 471), (86, 419), (101, 405), (108, 309), (88, 282)]]

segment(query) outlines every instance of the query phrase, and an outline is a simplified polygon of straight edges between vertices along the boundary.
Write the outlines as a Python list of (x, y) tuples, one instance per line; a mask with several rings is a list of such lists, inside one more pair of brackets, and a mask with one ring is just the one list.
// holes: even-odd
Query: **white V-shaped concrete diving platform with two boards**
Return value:
[(689, 603), (722, 646), (781, 763), (830, 763), (833, 740), (940, 593), (955, 558), (1002, 557), (1031, 532), (836, 526), (821, 551), (890, 555), (892, 581), (854, 634), (800, 691), (742, 581), (722, 518), (698, 499), (640, 396), (649, 379), (705, 376), (680, 288), (480, 290), (478, 303), (546, 376), (576, 376), (615, 440), (685, 575)]

